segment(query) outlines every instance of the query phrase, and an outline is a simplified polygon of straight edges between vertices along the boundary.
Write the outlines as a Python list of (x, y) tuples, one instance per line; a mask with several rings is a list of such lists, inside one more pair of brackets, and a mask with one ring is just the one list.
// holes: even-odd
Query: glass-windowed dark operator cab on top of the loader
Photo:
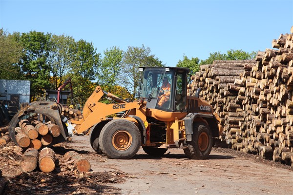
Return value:
[[(140, 98), (146, 98), (148, 109), (165, 112), (187, 112), (188, 68), (143, 67)], [(166, 84), (166, 79), (168, 84)], [(166, 87), (166, 85), (168, 87)], [(161, 99), (164, 98), (162, 101)]]

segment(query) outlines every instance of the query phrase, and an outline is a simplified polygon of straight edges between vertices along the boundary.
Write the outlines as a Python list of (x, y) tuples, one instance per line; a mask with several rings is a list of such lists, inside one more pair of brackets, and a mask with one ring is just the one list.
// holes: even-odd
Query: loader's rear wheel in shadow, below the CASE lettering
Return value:
[(208, 158), (212, 148), (212, 135), (209, 127), (204, 123), (193, 124), (192, 140), (187, 141), (188, 148), (184, 153), (191, 159)]

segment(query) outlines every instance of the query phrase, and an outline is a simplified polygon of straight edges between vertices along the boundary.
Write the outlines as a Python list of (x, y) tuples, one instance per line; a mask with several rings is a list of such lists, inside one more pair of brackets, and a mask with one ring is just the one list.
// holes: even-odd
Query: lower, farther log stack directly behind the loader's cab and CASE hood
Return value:
[[(225, 135), (235, 134), (239, 121), (244, 121), (239, 103), (244, 99), (245, 86), (240, 74), (255, 64), (255, 60), (215, 60), (213, 64), (201, 65), (201, 71), (192, 77), (190, 95), (194, 96), (197, 88), (202, 89), (200, 97), (207, 100), (221, 118), (222, 140), (228, 138)], [(238, 92), (243, 96), (238, 98)]]

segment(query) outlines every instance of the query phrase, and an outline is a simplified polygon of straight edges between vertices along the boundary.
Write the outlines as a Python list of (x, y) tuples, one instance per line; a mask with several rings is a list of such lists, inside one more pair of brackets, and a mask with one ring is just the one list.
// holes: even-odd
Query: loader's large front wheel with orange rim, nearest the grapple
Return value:
[(99, 137), (100, 149), (109, 158), (129, 159), (141, 146), (138, 127), (125, 119), (108, 122)]

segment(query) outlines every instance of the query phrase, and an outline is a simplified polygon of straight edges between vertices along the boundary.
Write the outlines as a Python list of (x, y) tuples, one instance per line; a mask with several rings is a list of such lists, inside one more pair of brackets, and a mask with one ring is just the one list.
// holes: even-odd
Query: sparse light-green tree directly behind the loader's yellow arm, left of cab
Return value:
[(122, 66), (123, 51), (118, 47), (106, 49), (101, 65), (98, 67), (98, 83), (107, 86), (108, 91), (113, 93), (113, 87), (119, 85), (118, 75)]

